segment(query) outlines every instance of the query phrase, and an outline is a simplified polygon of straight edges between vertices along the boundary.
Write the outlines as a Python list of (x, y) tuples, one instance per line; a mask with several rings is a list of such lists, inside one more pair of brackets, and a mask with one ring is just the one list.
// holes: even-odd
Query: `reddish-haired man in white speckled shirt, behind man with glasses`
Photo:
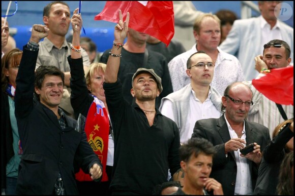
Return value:
[(223, 94), (229, 84), (244, 81), (244, 73), (239, 60), (233, 55), (221, 51), (218, 47), (221, 34), (220, 20), (216, 15), (202, 14), (198, 16), (194, 23), (193, 33), (196, 44), (192, 49), (174, 57), (168, 63), (173, 92), (190, 83), (190, 78), (186, 74), (186, 63), (188, 58), (197, 51), (204, 51), (215, 64), (215, 76), (211, 85), (219, 94)]

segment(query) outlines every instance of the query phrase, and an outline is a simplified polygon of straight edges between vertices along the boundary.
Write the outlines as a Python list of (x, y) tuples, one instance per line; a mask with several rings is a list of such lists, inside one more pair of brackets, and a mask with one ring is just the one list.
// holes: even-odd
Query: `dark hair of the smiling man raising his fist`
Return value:
[[(55, 76), (60, 76), (63, 84), (65, 84), (65, 73), (58, 69), (55, 66), (49, 65), (41, 65), (38, 67), (35, 71), (35, 83), (34, 86), (37, 87), (38, 89), (41, 89), (42, 83), (45, 79), (45, 75), (55, 75)], [(39, 95), (34, 91), (35, 95), (37, 98), (39, 98)]]

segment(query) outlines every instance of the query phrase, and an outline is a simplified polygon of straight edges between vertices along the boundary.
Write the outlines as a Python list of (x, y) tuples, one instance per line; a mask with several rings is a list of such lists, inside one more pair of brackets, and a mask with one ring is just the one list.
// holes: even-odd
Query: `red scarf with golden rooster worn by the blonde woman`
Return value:
[[(105, 169), (108, 151), (109, 120), (103, 102), (97, 98), (95, 100), (97, 100), (97, 103), (94, 101), (88, 110), (84, 130), (87, 141), (102, 163), (101, 181), (104, 182), (108, 181)], [(81, 169), (75, 174), (75, 177), (78, 181), (93, 181), (90, 175), (85, 174)]]

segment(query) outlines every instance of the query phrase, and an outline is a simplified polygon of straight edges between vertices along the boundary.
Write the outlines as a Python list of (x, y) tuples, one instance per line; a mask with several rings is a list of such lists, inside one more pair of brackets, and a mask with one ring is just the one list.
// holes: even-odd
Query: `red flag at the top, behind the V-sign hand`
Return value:
[(137, 1), (107, 1), (101, 13), (94, 20), (117, 23), (119, 10), (125, 20), (130, 13), (129, 27), (152, 35), (169, 45), (174, 35), (174, 11), (172, 1), (149, 1), (146, 6)]

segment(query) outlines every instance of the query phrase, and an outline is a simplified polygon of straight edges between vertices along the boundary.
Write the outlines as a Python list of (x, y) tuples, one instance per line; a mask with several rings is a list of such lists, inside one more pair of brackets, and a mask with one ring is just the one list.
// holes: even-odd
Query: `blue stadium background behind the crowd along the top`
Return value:
[[(26, 44), (30, 38), (31, 32), (30, 28), (33, 24), (43, 24), (43, 8), (51, 1), (17, 1), (18, 10), (17, 13), (8, 17), (8, 22), (10, 27), (17, 29), (14, 35), (15, 41), (17, 43), (17, 48), (22, 49), (22, 46)], [(71, 13), (73, 13), (75, 8), (79, 7), (79, 1), (66, 1), (70, 7)], [(89, 36), (97, 44), (98, 51), (103, 52), (106, 49), (111, 48), (113, 41), (113, 28), (114, 23), (107, 21), (96, 21), (94, 17), (99, 14), (106, 1), (82, 1), (81, 14), (83, 16), (83, 27), (86, 34), (81, 34), (81, 36)], [(253, 1), (257, 5), (257, 1)], [(286, 1), (293, 9), (293, 2)], [(9, 1), (2, 1), (2, 15), (6, 14)], [(212, 12), (215, 13), (220, 9), (228, 9), (237, 14), (241, 18), (241, 1), (193, 1), (195, 7), (202, 12)], [(12, 14), (16, 9), (16, 5), (12, 2), (9, 14)], [(252, 12), (253, 16), (258, 16), (258, 13)], [(292, 17), (285, 21), (288, 25), (293, 27), (293, 15)], [(71, 28), (71, 27), (70, 27)], [(69, 31), (70, 32), (70, 31)], [(69, 35), (70, 33), (68, 33)]]

